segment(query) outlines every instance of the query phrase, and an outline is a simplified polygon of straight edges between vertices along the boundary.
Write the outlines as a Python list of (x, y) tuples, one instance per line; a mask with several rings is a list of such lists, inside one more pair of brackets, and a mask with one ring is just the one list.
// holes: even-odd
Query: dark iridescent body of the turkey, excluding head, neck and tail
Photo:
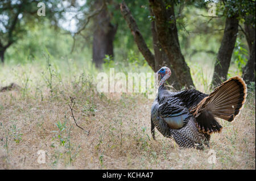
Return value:
[[(204, 145), (208, 146), (210, 135), (199, 132), (196, 127), (196, 118), (189, 112), (189, 109), (200, 103), (208, 95), (197, 90), (159, 91), (160, 94), (154, 100), (151, 108), (151, 125), (156, 127), (163, 136), (174, 138), (175, 142), (183, 148), (202, 149)], [(174, 117), (174, 121), (175, 116), (184, 117), (184, 122), (187, 124), (183, 126), (176, 119), (176, 126), (174, 124), (168, 125), (168, 116)], [(179, 127), (181, 128), (177, 129)]]

